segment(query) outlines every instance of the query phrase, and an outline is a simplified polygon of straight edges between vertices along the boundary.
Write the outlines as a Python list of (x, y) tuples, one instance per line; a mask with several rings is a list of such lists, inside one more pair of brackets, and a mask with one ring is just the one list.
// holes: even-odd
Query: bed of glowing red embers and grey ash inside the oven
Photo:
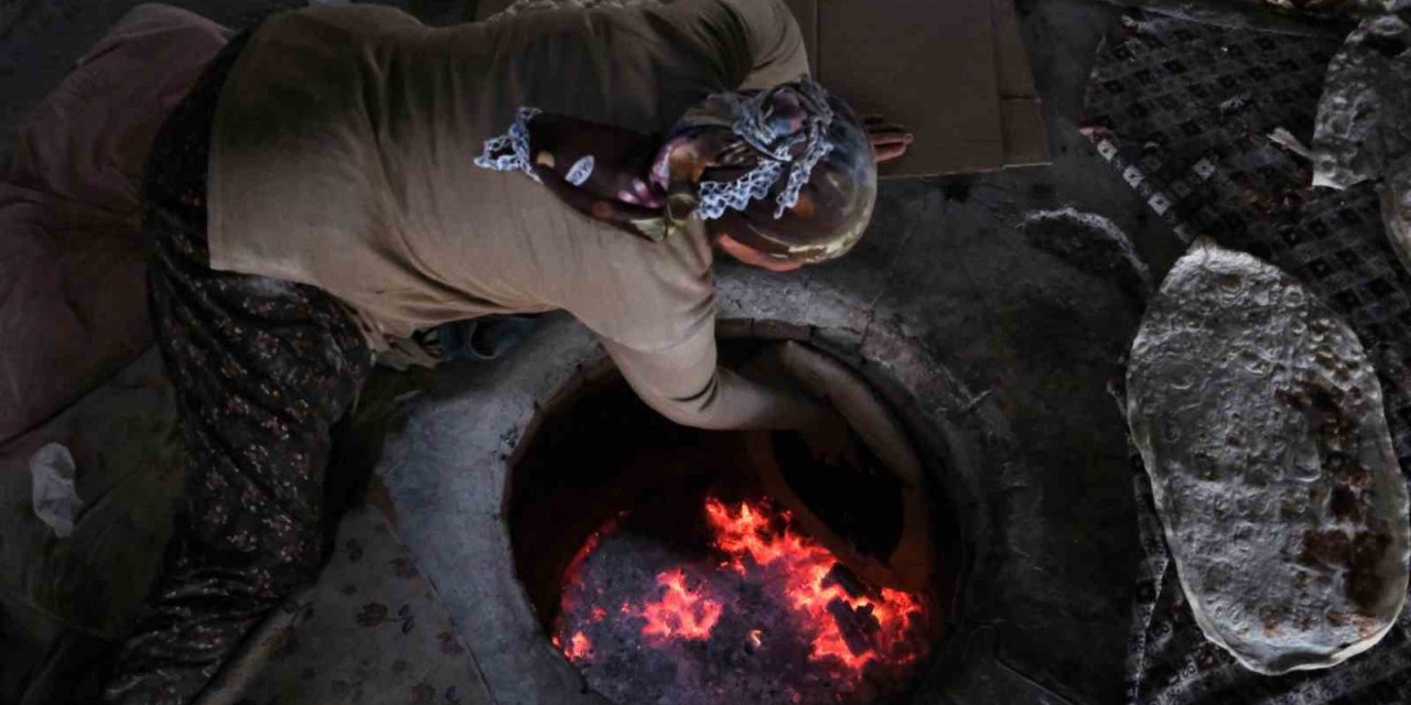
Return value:
[(926, 646), (919, 595), (862, 584), (772, 503), (710, 498), (710, 550), (593, 534), (566, 572), (555, 644), (621, 705), (861, 704), (896, 692)]

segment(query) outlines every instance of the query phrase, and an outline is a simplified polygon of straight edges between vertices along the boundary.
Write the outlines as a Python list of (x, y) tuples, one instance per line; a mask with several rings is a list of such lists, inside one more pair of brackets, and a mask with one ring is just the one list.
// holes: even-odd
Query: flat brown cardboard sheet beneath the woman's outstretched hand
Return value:
[[(484, 20), (511, 0), (480, 0)], [(670, 1), (670, 0), (667, 0)], [(1013, 0), (785, 0), (814, 78), (916, 134), (882, 178), (1046, 164), (1048, 137)]]

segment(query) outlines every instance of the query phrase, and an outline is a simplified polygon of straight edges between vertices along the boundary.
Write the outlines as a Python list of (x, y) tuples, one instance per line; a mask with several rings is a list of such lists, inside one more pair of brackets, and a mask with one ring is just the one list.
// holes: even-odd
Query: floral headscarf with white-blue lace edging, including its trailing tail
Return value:
[(525, 107), (476, 164), (523, 171), (576, 210), (659, 241), (689, 217), (783, 261), (848, 251), (876, 166), (856, 116), (811, 80), (717, 93), (663, 140)]

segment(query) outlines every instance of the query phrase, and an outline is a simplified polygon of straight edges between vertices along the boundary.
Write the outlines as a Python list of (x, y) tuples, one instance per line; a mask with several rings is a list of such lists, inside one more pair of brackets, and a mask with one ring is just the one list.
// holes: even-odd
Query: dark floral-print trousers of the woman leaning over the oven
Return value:
[(332, 427), (373, 355), (350, 313), (308, 286), (207, 266), (206, 161), (231, 39), (158, 133), (144, 175), (152, 319), (176, 389), (186, 496), (109, 702), (190, 701), (322, 558)]

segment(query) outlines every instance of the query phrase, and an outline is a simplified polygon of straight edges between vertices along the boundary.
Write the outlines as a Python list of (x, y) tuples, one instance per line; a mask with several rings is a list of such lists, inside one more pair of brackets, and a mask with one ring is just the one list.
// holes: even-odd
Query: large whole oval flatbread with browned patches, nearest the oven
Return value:
[(1407, 485), (1362, 344), (1302, 285), (1197, 241), (1132, 345), (1127, 423), (1206, 639), (1278, 674), (1387, 633)]

